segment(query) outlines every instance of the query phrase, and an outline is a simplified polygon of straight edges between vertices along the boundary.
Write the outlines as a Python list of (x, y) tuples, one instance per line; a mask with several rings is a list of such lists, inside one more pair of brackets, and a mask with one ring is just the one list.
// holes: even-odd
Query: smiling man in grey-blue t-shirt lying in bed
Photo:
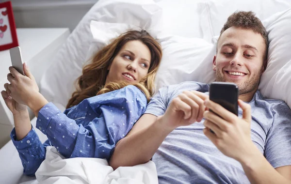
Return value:
[(162, 88), (117, 143), (110, 165), (116, 169), (152, 158), (160, 184), (291, 183), (291, 110), (258, 91), (267, 50), (266, 30), (254, 13), (230, 15), (213, 70), (216, 81), (239, 86), (239, 117), (209, 100), (209, 85)]

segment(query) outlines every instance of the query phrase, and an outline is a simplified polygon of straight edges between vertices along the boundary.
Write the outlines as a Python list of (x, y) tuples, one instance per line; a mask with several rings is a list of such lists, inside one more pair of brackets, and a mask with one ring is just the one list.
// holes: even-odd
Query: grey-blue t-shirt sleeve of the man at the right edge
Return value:
[(273, 107), (274, 122), (268, 131), (265, 157), (274, 168), (291, 165), (291, 110), (285, 103)]

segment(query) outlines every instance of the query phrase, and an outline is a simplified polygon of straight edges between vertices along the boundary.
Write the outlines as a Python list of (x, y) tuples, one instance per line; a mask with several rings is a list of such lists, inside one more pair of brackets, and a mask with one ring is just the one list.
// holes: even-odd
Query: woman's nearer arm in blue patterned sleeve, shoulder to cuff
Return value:
[(46, 104), (39, 110), (36, 127), (66, 158), (109, 159), (117, 141), (128, 134), (145, 108), (144, 94), (128, 86), (84, 100), (68, 112), (70, 118), (52, 103)]

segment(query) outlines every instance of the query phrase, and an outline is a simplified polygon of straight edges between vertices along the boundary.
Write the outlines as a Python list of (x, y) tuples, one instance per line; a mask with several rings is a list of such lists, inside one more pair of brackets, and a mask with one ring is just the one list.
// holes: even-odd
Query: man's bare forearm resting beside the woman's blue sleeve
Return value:
[(158, 117), (155, 123), (146, 129), (129, 135), (116, 144), (110, 166), (117, 169), (120, 166), (135, 166), (148, 162), (171, 131), (163, 125), (161, 117)]

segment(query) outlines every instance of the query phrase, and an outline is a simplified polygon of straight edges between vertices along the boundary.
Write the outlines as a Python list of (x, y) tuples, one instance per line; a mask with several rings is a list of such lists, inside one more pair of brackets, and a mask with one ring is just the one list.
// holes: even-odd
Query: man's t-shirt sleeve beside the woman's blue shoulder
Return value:
[(165, 113), (169, 100), (168, 89), (169, 87), (161, 88), (159, 92), (150, 99), (145, 114), (161, 116)]

